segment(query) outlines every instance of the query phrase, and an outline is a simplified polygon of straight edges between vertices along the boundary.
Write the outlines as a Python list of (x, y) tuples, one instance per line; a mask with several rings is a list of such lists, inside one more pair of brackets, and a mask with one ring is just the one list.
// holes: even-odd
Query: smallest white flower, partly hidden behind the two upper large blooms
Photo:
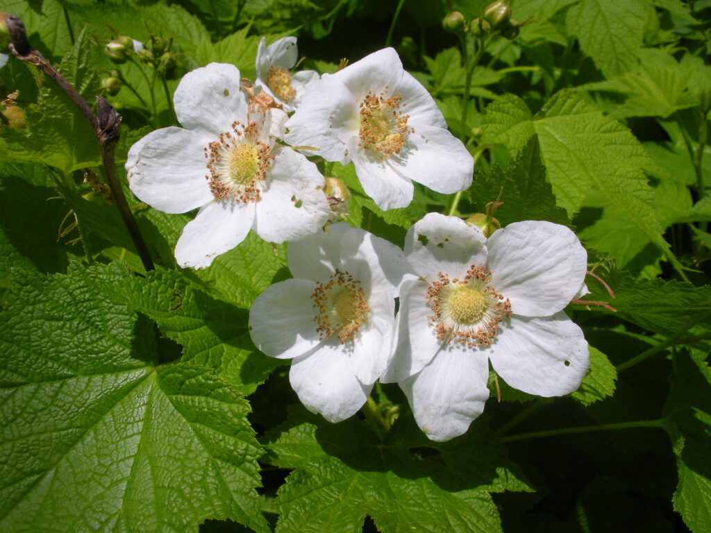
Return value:
[(257, 48), (257, 80), (255, 85), (269, 93), (284, 106), (286, 111), (299, 107), (301, 97), (311, 82), (319, 79), (315, 70), (290, 72), (299, 54), (296, 52), (296, 37), (284, 37), (269, 46), (264, 45), (262, 37)]

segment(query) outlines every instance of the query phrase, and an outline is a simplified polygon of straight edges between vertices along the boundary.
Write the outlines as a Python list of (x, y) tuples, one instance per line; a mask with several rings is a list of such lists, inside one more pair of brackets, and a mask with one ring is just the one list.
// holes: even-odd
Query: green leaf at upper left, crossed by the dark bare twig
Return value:
[[(98, 94), (99, 80), (92, 53), (82, 32), (58, 68), (90, 106)], [(0, 156), (5, 161), (45, 163), (63, 173), (99, 164), (99, 144), (93, 127), (53, 80), (38, 76), (40, 95), (37, 105), (25, 108), (27, 127), (0, 129)]]

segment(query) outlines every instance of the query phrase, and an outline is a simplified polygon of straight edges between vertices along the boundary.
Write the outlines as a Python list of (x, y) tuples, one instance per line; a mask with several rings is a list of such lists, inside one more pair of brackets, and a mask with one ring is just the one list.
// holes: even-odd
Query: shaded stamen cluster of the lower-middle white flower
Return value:
[(314, 320), (319, 340), (337, 337), (346, 343), (368, 321), (370, 308), (363, 287), (348, 272), (336, 269), (327, 283), (316, 282), (311, 299), (318, 311)]

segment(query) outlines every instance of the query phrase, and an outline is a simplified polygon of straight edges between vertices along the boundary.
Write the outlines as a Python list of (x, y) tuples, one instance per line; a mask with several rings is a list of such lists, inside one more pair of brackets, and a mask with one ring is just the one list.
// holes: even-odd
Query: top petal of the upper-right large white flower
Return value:
[(328, 77), (346, 85), (360, 102), (368, 92), (380, 96), (385, 87), (389, 87), (388, 94), (392, 95), (393, 89), (400, 85), (403, 72), (397, 52), (393, 48), (383, 48)]

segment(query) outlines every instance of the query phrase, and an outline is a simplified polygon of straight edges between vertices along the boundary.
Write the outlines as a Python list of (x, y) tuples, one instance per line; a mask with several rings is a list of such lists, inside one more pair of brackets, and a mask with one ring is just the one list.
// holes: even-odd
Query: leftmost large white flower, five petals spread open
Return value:
[(250, 112), (235, 66), (210, 63), (188, 72), (174, 104), (186, 129), (146, 135), (131, 147), (126, 170), (131, 190), (154, 208), (200, 208), (176, 244), (180, 266), (210, 265), (250, 229), (284, 242), (326, 223), (324, 177), (306, 157), (275, 143), (286, 113)]

